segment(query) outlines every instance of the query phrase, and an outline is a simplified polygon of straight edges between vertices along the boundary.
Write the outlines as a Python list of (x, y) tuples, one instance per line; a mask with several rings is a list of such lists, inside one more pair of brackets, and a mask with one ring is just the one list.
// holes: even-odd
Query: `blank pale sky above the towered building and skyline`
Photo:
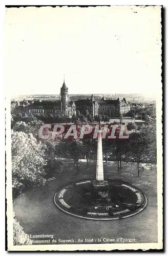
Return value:
[(7, 8), (11, 96), (161, 92), (160, 7)]

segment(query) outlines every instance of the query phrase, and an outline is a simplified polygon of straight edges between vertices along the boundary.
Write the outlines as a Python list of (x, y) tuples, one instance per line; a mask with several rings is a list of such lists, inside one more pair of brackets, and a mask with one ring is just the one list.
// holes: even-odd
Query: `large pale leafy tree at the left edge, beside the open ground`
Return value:
[(45, 145), (32, 134), (12, 132), (12, 188), (13, 195), (24, 188), (45, 183)]

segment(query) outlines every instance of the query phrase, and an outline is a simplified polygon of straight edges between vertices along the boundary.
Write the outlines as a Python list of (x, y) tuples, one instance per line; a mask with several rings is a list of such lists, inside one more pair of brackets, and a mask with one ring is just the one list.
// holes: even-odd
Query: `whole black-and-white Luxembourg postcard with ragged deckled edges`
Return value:
[(161, 12), (6, 7), (9, 251), (162, 249)]

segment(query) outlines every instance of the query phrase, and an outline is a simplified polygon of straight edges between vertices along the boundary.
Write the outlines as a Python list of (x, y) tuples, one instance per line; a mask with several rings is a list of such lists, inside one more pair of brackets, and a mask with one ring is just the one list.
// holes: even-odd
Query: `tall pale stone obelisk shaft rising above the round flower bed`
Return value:
[(102, 139), (101, 132), (98, 133), (98, 142), (97, 142), (97, 164), (96, 164), (96, 181), (104, 180), (104, 171), (103, 171), (103, 160), (102, 160)]

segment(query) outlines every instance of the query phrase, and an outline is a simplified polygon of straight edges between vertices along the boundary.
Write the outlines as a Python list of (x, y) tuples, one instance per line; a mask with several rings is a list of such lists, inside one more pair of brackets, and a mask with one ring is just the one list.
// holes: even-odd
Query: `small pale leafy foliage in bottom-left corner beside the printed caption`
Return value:
[(24, 232), (23, 227), (15, 218), (13, 212), (13, 245), (31, 245), (29, 235)]

